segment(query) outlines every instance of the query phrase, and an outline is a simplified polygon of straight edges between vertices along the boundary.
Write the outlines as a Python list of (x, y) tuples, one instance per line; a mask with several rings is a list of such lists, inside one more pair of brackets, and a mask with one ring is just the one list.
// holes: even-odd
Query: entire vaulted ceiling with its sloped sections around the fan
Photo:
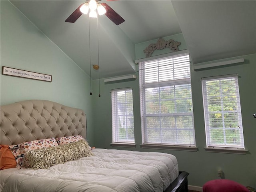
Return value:
[(90, 18), (90, 42), (88, 16), (65, 22), (84, 1), (10, 2), (88, 75), (99, 58), (100, 78), (133, 74), (135, 44), (180, 33), (194, 64), (256, 53), (256, 1), (102, 0), (125, 22)]

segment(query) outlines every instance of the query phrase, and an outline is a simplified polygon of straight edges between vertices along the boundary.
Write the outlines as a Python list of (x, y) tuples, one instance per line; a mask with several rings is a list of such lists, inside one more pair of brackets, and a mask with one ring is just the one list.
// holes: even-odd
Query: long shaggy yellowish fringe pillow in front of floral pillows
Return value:
[(27, 166), (29, 168), (47, 169), (56, 164), (63, 164), (92, 155), (92, 151), (86, 140), (80, 140), (65, 145), (29, 150), (26, 152), (25, 158), (27, 159)]

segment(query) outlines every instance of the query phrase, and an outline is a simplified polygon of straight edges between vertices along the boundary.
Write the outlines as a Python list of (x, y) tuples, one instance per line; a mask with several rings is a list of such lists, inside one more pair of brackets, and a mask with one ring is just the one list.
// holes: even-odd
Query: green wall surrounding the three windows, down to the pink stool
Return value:
[[(194, 108), (194, 124), (196, 133), (197, 152), (178, 150), (157, 150), (140, 148), (140, 98), (139, 79), (132, 81), (120, 81), (104, 83), (100, 80), (100, 94), (98, 97), (98, 80), (93, 81), (94, 94), (94, 144), (97, 148), (116, 148), (122, 150), (156, 151), (174, 154), (178, 159), (180, 170), (190, 173), (188, 184), (203, 186), (208, 180), (219, 179), (217, 170), (222, 169), (226, 179), (234, 180), (245, 186), (256, 186), (256, 120), (252, 114), (255, 112), (256, 96), (256, 54), (241, 56), (243, 64), (222, 66), (220, 68), (208, 68), (206, 70), (191, 70), (192, 94)], [(233, 58), (232, 58), (233, 59)], [(236, 59), (236, 58), (234, 58)], [(193, 64), (191, 64), (193, 66)], [(239, 75), (240, 99), (242, 108), (242, 120), (244, 127), (245, 148), (249, 151), (246, 155), (206, 152), (204, 111), (202, 100), (202, 88), (200, 79), (207, 76), (224, 74)], [(135, 74), (138, 77), (138, 73)], [(112, 147), (112, 119), (111, 119), (111, 89), (132, 87), (134, 101), (134, 132), (136, 148)]]

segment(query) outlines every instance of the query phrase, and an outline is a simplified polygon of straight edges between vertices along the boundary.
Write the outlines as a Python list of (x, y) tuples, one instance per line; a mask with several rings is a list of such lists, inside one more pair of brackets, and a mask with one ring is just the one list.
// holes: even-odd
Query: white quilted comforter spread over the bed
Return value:
[(94, 156), (45, 170), (0, 171), (2, 192), (163, 192), (178, 176), (175, 156), (94, 149)]

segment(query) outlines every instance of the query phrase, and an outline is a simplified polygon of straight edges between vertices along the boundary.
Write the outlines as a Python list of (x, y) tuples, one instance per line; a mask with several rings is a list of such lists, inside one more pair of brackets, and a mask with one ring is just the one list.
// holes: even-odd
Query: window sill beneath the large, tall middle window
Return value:
[(157, 144), (142, 144), (141, 148), (148, 149), (165, 149), (165, 150), (179, 150), (179, 151), (197, 151), (197, 147), (189, 147), (189, 146), (172, 146), (172, 145), (157, 145)]

